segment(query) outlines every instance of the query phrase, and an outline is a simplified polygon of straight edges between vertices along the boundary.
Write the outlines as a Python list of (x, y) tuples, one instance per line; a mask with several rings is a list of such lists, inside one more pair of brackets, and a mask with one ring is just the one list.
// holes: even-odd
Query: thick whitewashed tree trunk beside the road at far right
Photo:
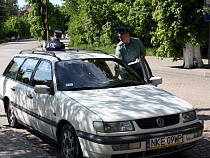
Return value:
[(183, 48), (183, 56), (184, 56), (184, 68), (191, 69), (203, 66), (200, 46), (193, 46), (192, 43), (186, 42), (185, 47)]

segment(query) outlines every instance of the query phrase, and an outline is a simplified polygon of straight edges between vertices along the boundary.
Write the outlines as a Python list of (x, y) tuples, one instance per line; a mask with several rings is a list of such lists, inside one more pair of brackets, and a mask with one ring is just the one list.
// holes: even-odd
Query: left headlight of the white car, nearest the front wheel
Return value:
[(113, 132), (126, 132), (134, 131), (131, 121), (124, 122), (93, 122), (94, 129), (97, 132), (113, 133)]

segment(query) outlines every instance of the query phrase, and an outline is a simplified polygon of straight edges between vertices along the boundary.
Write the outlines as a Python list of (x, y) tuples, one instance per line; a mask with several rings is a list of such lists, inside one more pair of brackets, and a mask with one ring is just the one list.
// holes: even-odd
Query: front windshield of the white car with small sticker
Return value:
[(58, 90), (82, 90), (145, 84), (126, 65), (110, 59), (59, 61), (55, 64)]

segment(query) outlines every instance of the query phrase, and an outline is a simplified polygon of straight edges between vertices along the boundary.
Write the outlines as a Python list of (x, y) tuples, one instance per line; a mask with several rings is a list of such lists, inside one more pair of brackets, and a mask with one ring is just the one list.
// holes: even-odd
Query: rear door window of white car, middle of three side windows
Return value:
[(31, 75), (38, 61), (38, 59), (27, 59), (18, 71), (17, 80), (29, 84)]

